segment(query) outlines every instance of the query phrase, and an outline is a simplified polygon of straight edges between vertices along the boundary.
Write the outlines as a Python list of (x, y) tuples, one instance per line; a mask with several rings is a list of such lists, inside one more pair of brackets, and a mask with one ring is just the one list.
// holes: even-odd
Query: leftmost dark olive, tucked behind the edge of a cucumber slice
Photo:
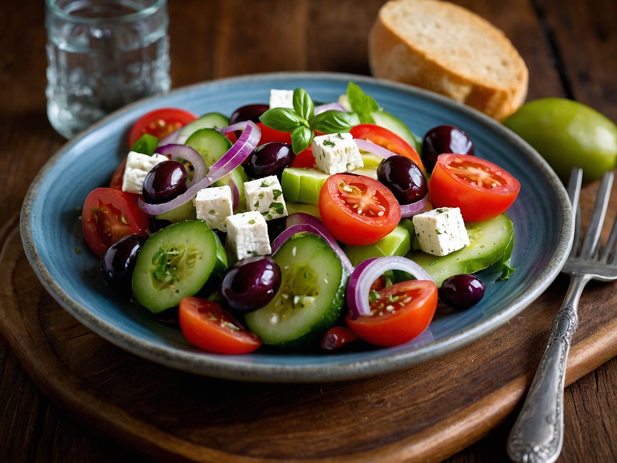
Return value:
[(131, 292), (131, 278), (137, 255), (146, 238), (128, 235), (120, 238), (101, 257), (101, 273), (107, 285), (126, 293)]

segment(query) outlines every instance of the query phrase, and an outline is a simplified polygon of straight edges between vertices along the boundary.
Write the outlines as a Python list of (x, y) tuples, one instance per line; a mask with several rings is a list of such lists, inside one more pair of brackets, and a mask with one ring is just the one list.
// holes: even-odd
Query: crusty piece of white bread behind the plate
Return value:
[(503, 120), (523, 104), (529, 72), (510, 40), (441, 0), (391, 0), (368, 41), (373, 76), (436, 91)]

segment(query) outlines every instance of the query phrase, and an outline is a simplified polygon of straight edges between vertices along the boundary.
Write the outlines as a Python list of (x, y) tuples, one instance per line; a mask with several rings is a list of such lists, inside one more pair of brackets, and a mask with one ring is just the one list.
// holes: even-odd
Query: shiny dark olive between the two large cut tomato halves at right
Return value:
[(405, 156), (390, 156), (379, 162), (377, 180), (387, 186), (400, 204), (416, 202), (428, 192), (426, 178), (415, 162)]

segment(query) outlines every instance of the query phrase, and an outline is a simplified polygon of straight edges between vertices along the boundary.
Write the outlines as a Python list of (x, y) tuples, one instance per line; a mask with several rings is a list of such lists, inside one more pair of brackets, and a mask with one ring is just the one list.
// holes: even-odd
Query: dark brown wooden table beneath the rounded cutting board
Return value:
[[(456, 2), (497, 25), (518, 48), (529, 67), (528, 101), (566, 96), (617, 120), (617, 2)], [(282, 70), (368, 74), (366, 39), (382, 3), (170, 0), (173, 86)], [(0, 217), (4, 218), (19, 213), (30, 181), (64, 143), (46, 118), (43, 21), (43, 7), (35, 0), (25, 0), (0, 16)], [(617, 406), (616, 383), (617, 359), (612, 359), (566, 389), (561, 462), (615, 461), (611, 444), (617, 435), (603, 416)], [(508, 420), (448, 461), (505, 461), (510, 426)], [(0, 337), (0, 461), (142, 459), (52, 404)]]

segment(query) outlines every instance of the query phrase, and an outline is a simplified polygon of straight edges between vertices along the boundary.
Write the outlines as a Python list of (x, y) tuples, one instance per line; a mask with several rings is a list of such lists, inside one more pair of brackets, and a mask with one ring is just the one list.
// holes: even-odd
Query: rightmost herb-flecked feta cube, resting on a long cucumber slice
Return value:
[(412, 220), (420, 249), (424, 252), (434, 256), (446, 256), (470, 244), (458, 207), (440, 207), (416, 214)]

